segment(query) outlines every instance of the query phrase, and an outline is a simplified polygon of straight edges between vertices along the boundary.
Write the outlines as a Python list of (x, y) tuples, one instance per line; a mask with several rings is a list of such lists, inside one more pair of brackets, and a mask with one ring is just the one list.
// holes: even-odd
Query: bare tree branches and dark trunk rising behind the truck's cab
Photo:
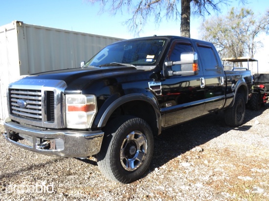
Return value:
[[(231, 0), (88, 0), (100, 4), (100, 13), (110, 12), (112, 15), (121, 13), (132, 14), (125, 20), (129, 30), (137, 35), (146, 23), (154, 19), (158, 25), (163, 19), (180, 21), (181, 36), (190, 37), (190, 16), (204, 17), (211, 11), (220, 12), (220, 5), (228, 5)], [(246, 3), (247, 0), (238, 0)]]

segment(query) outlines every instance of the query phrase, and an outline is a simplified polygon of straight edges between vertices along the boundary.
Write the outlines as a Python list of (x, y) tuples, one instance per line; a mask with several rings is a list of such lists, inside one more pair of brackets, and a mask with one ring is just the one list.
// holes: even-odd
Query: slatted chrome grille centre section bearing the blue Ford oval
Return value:
[[(41, 90), (12, 89), (10, 90), (11, 114), (21, 118), (42, 121)], [(19, 105), (25, 103), (24, 105)]]

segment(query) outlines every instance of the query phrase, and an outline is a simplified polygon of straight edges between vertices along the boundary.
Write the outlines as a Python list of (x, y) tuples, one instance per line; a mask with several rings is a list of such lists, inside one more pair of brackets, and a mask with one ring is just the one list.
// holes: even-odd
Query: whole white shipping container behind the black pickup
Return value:
[(80, 67), (123, 39), (13, 21), (0, 26), (0, 124), (8, 117), (6, 88), (23, 75)]

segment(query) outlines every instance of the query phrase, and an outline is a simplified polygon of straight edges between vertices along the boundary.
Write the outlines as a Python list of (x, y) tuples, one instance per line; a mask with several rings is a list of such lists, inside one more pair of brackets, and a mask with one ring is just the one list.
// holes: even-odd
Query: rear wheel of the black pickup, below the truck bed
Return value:
[(246, 103), (242, 94), (237, 94), (232, 107), (224, 110), (224, 120), (229, 126), (239, 126), (243, 123)]

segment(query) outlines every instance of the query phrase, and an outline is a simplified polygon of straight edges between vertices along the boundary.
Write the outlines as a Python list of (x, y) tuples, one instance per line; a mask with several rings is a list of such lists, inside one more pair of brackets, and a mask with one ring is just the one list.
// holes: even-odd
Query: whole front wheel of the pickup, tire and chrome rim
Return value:
[(107, 124), (97, 163), (108, 179), (130, 183), (147, 171), (153, 148), (154, 138), (148, 123), (122, 116)]

